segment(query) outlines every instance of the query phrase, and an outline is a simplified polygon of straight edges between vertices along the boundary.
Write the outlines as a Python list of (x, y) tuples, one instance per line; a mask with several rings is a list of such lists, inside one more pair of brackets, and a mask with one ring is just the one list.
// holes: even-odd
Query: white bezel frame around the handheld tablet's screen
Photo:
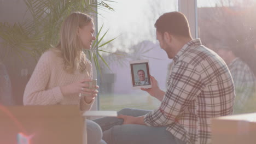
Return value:
[[(152, 83), (151, 83), (151, 79), (150, 79), (149, 61), (148, 61), (148, 59), (143, 59), (143, 60), (139, 60), (139, 61), (130, 61), (129, 63), (130, 63), (130, 73), (131, 73), (131, 86), (132, 86), (132, 89), (151, 88), (152, 87)], [(133, 71), (133, 65), (139, 65), (139, 64), (146, 64), (147, 71), (145, 71), (145, 73), (147, 73), (147, 76), (148, 76), (147, 78), (148, 78), (149, 85), (135, 86), (135, 76), (134, 76), (134, 71)]]

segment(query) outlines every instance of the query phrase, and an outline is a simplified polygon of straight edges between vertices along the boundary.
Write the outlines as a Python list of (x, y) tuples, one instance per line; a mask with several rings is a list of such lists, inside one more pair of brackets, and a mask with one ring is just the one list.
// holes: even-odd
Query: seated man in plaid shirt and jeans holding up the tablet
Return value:
[(118, 118), (96, 119), (108, 143), (211, 143), (211, 118), (231, 115), (234, 84), (225, 62), (212, 50), (192, 39), (187, 18), (165, 13), (155, 22), (156, 39), (173, 59), (162, 91), (153, 76), (145, 89), (161, 101), (153, 111), (123, 109)]

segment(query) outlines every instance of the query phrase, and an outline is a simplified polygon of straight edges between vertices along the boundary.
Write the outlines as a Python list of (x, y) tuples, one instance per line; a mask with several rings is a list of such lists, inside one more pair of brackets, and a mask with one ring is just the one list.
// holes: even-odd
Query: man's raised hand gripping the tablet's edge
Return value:
[(165, 96), (165, 92), (158, 87), (158, 81), (155, 80), (155, 77), (150, 75), (150, 79), (152, 88), (141, 88), (141, 90), (148, 92), (152, 97), (162, 101)]

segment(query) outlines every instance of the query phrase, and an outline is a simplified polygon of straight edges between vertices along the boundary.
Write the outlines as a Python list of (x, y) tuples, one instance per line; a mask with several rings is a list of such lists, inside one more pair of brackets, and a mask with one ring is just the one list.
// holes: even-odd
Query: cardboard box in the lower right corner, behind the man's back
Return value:
[(212, 144), (229, 143), (256, 143), (256, 113), (212, 119)]

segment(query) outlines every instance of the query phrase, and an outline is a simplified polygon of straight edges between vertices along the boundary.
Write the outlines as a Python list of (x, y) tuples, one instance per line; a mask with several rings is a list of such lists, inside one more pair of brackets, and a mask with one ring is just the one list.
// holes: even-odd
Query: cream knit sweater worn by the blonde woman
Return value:
[(94, 100), (87, 104), (79, 95), (63, 96), (60, 86), (65, 86), (82, 79), (92, 79), (92, 65), (86, 65), (86, 72), (75, 70), (74, 74), (67, 73), (63, 67), (62, 58), (53, 50), (49, 50), (40, 57), (24, 92), (24, 105), (79, 105), (80, 110), (90, 110)]

